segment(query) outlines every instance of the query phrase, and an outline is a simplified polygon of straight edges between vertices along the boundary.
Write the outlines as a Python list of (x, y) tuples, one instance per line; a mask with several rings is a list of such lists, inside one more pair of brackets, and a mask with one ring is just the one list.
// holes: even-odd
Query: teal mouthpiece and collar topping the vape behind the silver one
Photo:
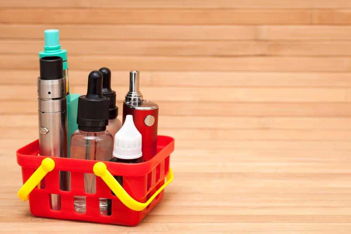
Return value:
[(67, 51), (61, 49), (60, 35), (58, 29), (48, 29), (44, 31), (45, 46), (44, 51), (39, 52), (39, 58), (45, 56), (60, 56), (63, 60), (64, 70), (68, 68)]

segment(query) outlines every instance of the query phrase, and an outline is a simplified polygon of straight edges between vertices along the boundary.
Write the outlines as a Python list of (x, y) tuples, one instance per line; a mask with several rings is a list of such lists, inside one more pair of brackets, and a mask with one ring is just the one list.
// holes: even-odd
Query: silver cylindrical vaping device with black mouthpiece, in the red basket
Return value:
[[(39, 155), (67, 158), (66, 78), (62, 58), (47, 56), (39, 60), (38, 114)], [(60, 172), (60, 187), (67, 190), (67, 172)], [(45, 186), (41, 181), (40, 187)], [(60, 195), (51, 194), (51, 208), (60, 210)]]

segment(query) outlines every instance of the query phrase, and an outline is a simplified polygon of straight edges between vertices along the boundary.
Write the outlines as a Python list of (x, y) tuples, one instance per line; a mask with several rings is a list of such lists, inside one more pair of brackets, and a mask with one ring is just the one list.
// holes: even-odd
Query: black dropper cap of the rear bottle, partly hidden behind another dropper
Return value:
[(107, 67), (101, 67), (99, 72), (102, 73), (102, 95), (110, 98), (110, 111), (108, 112), (109, 119), (115, 119), (118, 115), (118, 107), (116, 106), (116, 92), (111, 89), (111, 71)]

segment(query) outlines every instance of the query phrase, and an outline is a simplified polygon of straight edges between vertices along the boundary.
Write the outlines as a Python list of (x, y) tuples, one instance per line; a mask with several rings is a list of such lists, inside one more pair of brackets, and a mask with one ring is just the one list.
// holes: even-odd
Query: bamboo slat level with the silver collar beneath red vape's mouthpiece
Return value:
[[(351, 102), (351, 90), (342, 88), (211, 88), (211, 87), (153, 87), (143, 86), (145, 92), (143, 95), (148, 96), (150, 100), (162, 101), (212, 101), (220, 102), (225, 100), (231, 102)], [(0, 93), (2, 100), (13, 99), (11, 94), (15, 91), (17, 100), (26, 100), (28, 97), (37, 94), (36, 85), (14, 86), (0, 85), (3, 91)], [(127, 91), (124, 86), (116, 86), (115, 91), (123, 96)], [(86, 85), (72, 85), (72, 93), (86, 93)], [(205, 93), (211, 93), (211, 96), (204, 96)], [(250, 93), (250, 96), (247, 96)], [(163, 97), (163, 98), (160, 98)], [(201, 98), (200, 98), (201, 97)], [(224, 110), (225, 111), (225, 110)]]

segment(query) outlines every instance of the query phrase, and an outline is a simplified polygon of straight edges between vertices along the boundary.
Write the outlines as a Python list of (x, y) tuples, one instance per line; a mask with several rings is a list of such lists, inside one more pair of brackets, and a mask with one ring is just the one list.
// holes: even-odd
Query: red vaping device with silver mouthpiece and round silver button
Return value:
[(129, 92), (123, 102), (123, 123), (127, 115), (133, 116), (142, 136), (142, 158), (147, 161), (156, 154), (158, 105), (143, 99), (139, 91), (139, 71), (130, 71), (129, 79)]

